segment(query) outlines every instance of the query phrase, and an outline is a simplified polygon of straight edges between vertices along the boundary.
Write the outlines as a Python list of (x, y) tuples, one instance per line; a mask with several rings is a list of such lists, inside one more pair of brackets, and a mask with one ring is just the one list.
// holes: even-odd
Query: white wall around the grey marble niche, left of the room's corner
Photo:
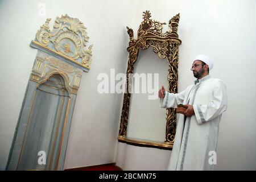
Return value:
[[(45, 3), (46, 16), (38, 5)], [(113, 163), (122, 94), (99, 94), (100, 73), (125, 73), (133, 1), (1, 1), (0, 2), (0, 169), (5, 169), (27, 82), (36, 56), (29, 46), (36, 31), (52, 18), (68, 14), (87, 27), (93, 44), (91, 70), (82, 74), (64, 168)]]

